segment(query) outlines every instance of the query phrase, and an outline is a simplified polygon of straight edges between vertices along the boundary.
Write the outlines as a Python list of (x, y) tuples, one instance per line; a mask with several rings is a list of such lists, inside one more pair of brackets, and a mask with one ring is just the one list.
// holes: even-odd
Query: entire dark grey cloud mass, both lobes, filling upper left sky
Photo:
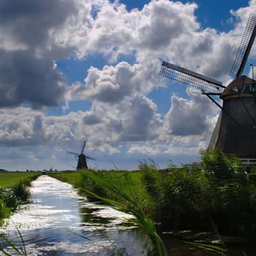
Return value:
[[(1, 0), (0, 107), (31, 104), (33, 108), (60, 104), (66, 90), (65, 77), (54, 61), (72, 49), (54, 43), (52, 31), (76, 15), (75, 1)], [(22, 46), (20, 46), (22, 45)]]

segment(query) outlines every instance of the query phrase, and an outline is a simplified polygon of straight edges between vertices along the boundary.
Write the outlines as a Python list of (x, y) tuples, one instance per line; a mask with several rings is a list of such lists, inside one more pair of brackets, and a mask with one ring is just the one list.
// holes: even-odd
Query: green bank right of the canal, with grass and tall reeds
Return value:
[[(90, 179), (88, 173), (54, 173), (53, 177), (117, 200), (121, 198)], [(250, 172), (249, 174), (247, 174)], [(255, 170), (219, 150), (202, 152), (193, 168), (170, 166), (161, 173), (154, 164), (136, 172), (95, 172), (131, 196), (159, 230), (213, 230), (221, 234), (255, 237)]]

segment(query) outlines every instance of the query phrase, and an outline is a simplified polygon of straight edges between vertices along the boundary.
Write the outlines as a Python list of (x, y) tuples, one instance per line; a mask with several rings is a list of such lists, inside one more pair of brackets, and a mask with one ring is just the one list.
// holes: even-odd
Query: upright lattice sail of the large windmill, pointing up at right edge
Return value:
[(246, 60), (252, 49), (252, 45), (256, 36), (256, 15), (250, 14), (246, 28), (244, 30), (244, 35), (241, 40), (241, 44), (236, 54), (236, 58), (232, 65), (230, 76), (237, 78), (241, 76), (244, 70)]

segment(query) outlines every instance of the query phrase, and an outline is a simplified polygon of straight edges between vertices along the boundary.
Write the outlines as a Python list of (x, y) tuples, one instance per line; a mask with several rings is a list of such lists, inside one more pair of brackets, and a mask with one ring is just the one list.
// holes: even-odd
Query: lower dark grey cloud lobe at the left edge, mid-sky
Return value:
[(29, 51), (0, 51), (0, 107), (29, 103), (33, 108), (60, 104), (65, 79), (49, 58)]

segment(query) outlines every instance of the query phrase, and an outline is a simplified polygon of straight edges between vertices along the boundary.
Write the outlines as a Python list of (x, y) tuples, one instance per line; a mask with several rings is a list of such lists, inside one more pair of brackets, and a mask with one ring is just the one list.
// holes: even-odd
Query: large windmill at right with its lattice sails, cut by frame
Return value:
[[(250, 14), (230, 71), (227, 87), (220, 81), (163, 61), (160, 75), (201, 90), (220, 109), (209, 147), (236, 155), (244, 163), (256, 163), (256, 81), (242, 76), (256, 35), (256, 15)], [(253, 67), (252, 67), (253, 68)], [(222, 106), (212, 96), (219, 96)]]

